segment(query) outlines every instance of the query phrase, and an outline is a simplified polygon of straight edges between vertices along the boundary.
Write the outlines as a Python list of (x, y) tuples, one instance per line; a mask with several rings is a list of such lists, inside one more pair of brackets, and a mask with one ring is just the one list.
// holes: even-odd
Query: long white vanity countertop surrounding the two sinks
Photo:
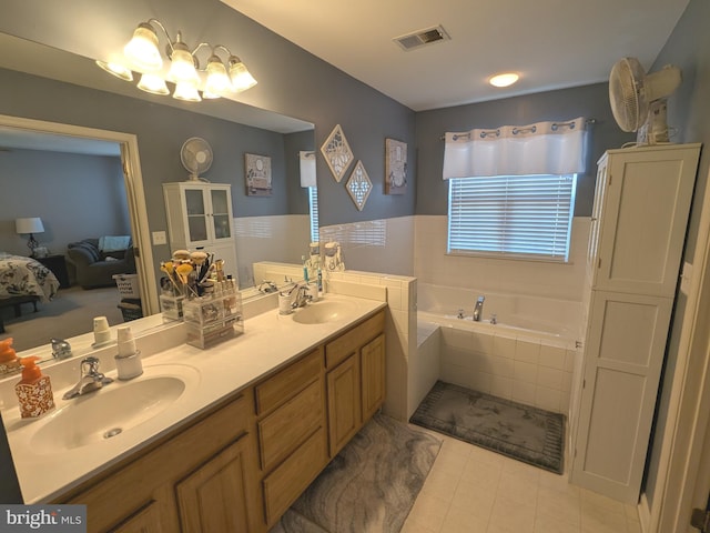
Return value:
[[(324, 301), (347, 301), (349, 311), (338, 321), (300, 324), (294, 322), (293, 315), (282, 316), (276, 310), (272, 310), (246, 320), (242, 335), (209, 350), (181, 344), (159, 353), (142, 354), (145, 371), (142, 376), (128, 382), (116, 380), (79, 400), (91, 402), (92, 396), (110, 393), (112, 388), (128, 386), (154, 375), (170, 375), (173, 370), (185, 365), (190, 368), (185, 369), (189, 372), (179, 374), (187, 376), (187, 389), (161, 414), (111, 439), (70, 450), (52, 450), (51, 444), (45, 442), (41, 446), (37, 445), (38, 441), (33, 439), (37, 439), (36, 433), (44, 424), (43, 421), (57, 416), (62, 408), (78, 401), (62, 400), (68, 388), (53, 390), (57, 409), (40, 419), (21, 420), (17, 405), (6, 409), (2, 418), (24, 502), (41, 503), (57, 497), (196, 418), (225, 396), (255, 383), (326, 339), (386, 306), (381, 301), (337, 294), (327, 294), (325, 299), (310, 305), (318, 305)], [(51, 378), (51, 369), (48, 374)], [(106, 375), (115, 378), (115, 371)]]

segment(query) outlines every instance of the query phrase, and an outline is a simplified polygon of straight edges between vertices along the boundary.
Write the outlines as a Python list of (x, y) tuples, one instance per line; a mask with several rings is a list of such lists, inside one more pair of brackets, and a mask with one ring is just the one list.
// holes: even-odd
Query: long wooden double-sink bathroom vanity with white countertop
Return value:
[[(334, 302), (347, 312), (318, 308)], [(48, 449), (16, 456), (26, 500), (87, 504), (91, 532), (267, 531), (385, 399), (386, 304), (337, 295), (320, 303), (303, 310), (302, 322), (294, 320), (301, 311), (281, 316), (274, 310), (212, 350), (180, 345), (146, 358), (140, 379), (164, 379), (161, 366), (178, 364), (199, 374), (186, 379), (180, 400), (143, 424), (164, 419), (165, 426), (123, 447), (111, 441), (135, 441), (140, 424), (91, 446), (58, 450), (55, 461)], [(108, 395), (110, 386), (84, 401)], [(28, 435), (18, 436), (22, 431)], [(40, 432), (29, 433), (9, 431), (11, 446)], [(102, 447), (110, 452), (101, 456)], [(39, 464), (23, 467), (31, 460)], [(64, 471), (63, 481), (23, 483), (50, 465)], [(36, 497), (28, 499), (30, 486)]]

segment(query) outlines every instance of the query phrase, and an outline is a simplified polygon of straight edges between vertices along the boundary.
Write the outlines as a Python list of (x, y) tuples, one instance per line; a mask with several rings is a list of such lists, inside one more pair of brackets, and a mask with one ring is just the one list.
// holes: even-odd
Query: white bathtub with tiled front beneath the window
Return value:
[[(474, 322), (480, 294), (484, 320)], [(569, 416), (580, 315), (580, 302), (419, 283), (417, 366), (428, 372), (417, 392), (440, 379)]]

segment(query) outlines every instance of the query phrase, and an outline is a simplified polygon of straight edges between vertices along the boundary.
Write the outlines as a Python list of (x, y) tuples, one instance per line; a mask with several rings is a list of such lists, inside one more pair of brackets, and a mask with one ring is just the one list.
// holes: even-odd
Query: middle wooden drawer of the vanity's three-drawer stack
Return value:
[(324, 425), (323, 381), (317, 380), (258, 422), (262, 470), (267, 472)]

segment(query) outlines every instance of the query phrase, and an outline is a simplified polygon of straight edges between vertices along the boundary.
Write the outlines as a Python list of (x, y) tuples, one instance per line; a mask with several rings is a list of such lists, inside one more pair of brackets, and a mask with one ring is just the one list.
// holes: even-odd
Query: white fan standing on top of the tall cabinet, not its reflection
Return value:
[(616, 62), (609, 76), (611, 111), (619, 128), (637, 132), (637, 145), (668, 142), (667, 99), (680, 82), (678, 67), (647, 74), (636, 58)]

